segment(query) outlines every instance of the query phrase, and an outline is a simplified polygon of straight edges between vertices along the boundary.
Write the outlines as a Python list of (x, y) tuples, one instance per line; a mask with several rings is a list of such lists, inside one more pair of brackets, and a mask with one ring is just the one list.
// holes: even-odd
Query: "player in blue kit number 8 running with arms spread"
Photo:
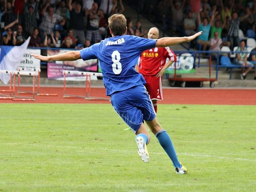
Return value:
[(127, 27), (126, 19), (122, 14), (114, 14), (109, 17), (108, 26), (112, 37), (88, 48), (52, 56), (31, 55), (43, 61), (98, 58), (106, 94), (110, 96), (116, 113), (136, 134), (135, 141), (140, 159), (145, 163), (149, 161), (147, 145), (150, 135), (143, 123), (145, 121), (172, 160), (176, 173), (187, 173), (188, 169), (178, 161), (171, 138), (156, 119), (153, 104), (144, 86), (146, 81), (134, 67), (141, 52), (153, 47), (166, 47), (189, 42), (201, 35), (202, 32), (189, 37), (164, 37), (157, 40), (124, 35)]

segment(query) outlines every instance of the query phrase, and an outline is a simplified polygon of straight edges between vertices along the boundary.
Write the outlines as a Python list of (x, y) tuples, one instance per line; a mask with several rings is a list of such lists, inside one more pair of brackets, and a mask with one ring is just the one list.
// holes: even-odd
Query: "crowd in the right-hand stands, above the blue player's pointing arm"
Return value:
[[(255, 38), (255, 0), (142, 0), (140, 7), (156, 22), (167, 20), (166, 28), (173, 35), (188, 36), (202, 30), (196, 42), (202, 50), (220, 51), (223, 45), (232, 50), (239, 46), (239, 29)], [(211, 41), (215, 32), (218, 43)]]

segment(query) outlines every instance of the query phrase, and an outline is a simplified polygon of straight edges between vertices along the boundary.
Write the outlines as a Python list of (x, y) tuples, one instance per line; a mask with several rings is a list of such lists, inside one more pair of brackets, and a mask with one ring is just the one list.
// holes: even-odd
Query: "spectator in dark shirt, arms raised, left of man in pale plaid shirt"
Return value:
[(37, 28), (36, 23), (36, 13), (38, 9), (39, 3), (36, 4), (36, 8), (34, 10), (34, 7), (32, 5), (28, 6), (28, 11), (26, 9), (27, 7), (27, 0), (25, 0), (24, 4), (24, 24), (25, 24), (25, 31), (29, 34), (33, 34), (33, 29)]

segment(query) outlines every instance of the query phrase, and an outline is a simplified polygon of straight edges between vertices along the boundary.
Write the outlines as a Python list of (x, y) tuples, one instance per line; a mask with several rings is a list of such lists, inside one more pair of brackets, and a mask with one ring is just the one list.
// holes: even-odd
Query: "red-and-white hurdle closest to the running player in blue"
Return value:
[[(70, 95), (66, 94), (66, 76), (70, 75), (82, 75), (85, 76), (85, 95)], [(63, 70), (63, 76), (64, 76), (64, 81), (63, 81), (63, 98), (84, 98), (87, 100), (109, 100), (108, 98), (103, 98), (103, 97), (93, 97), (91, 96), (91, 76), (101, 76), (102, 73), (94, 73), (94, 72), (86, 72), (86, 71), (68, 71), (68, 70)], [(109, 100), (110, 101), (110, 100)]]

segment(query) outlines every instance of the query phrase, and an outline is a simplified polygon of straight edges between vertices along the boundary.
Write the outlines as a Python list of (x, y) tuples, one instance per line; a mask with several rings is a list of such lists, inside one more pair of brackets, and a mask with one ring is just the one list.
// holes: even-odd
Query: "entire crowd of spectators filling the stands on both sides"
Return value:
[[(151, 20), (166, 23), (166, 29), (174, 36), (203, 31), (191, 43), (200, 50), (220, 51), (223, 46), (233, 50), (240, 46), (241, 32), (256, 38), (256, 0), (126, 3), (138, 5)], [(0, 0), (0, 44), (21, 45), (31, 36), (30, 47), (82, 49), (109, 37), (108, 17), (123, 12), (122, 0)], [(133, 23), (127, 18), (127, 34), (147, 37), (147, 30), (139, 20)], [(246, 72), (242, 74), (244, 79)]]

